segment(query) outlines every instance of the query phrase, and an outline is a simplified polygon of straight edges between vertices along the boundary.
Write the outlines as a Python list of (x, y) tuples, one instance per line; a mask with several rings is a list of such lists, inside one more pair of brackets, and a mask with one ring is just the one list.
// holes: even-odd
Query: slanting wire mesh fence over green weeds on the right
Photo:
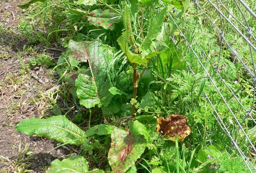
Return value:
[[(164, 2), (160, 0), (160, 3), (165, 7)], [(253, 3), (251, 5), (253, 7)], [(248, 135), (248, 121), (251, 122), (251, 127), (255, 127), (256, 123), (254, 102), (256, 71), (254, 65), (254, 55), (256, 51), (256, 39), (254, 37), (255, 33), (253, 31), (253, 26), (250, 26), (248, 20), (255, 20), (256, 15), (254, 14), (253, 10), (242, 0), (195, 0), (193, 4), (190, 4), (190, 6), (194, 6), (196, 10), (196, 27), (194, 30), (180, 24), (180, 22), (173, 15), (175, 9), (172, 9), (173, 11), (169, 9), (167, 11), (168, 16), (170, 19), (172, 19), (174, 26), (177, 27), (179, 34), (183, 38), (183, 42), (187, 44), (189, 53), (194, 55), (194, 59), (197, 60), (197, 63), (199, 66), (201, 66), (200, 68), (204, 71), (205, 77), (203, 78), (207, 78), (208, 85), (214, 86), (214, 92), (221, 97), (222, 107), (228, 109), (230, 116), (232, 117), (231, 119), (233, 121), (223, 120), (225, 116), (220, 115), (219, 113), (218, 108), (220, 108), (220, 106), (217, 105), (219, 103), (215, 103), (215, 100), (210, 98), (209, 94), (211, 93), (209, 93), (209, 91), (203, 91), (205, 101), (207, 101), (211, 106), (210, 112), (212, 113), (212, 116), (215, 117), (223, 134), (226, 135), (226, 137), (228, 137), (230, 140), (230, 146), (228, 150), (233, 151), (233, 149), (236, 149), (237, 154), (239, 154), (243, 159), (244, 164), (248, 168), (248, 171), (254, 172), (256, 168), (254, 166), (253, 157), (251, 155), (256, 153), (256, 149), (254, 146), (255, 143), (252, 142), (251, 137)], [(232, 6), (232, 8), (230, 8), (230, 6)], [(201, 30), (199, 30), (199, 28), (203, 25), (209, 26), (212, 29), (212, 33), (214, 33), (216, 39), (218, 40), (219, 50), (218, 54), (216, 54), (218, 56), (213, 57), (207, 48), (205, 48), (207, 46), (195, 42), (195, 37), (192, 36), (193, 39), (191, 39), (190, 36), (187, 36), (187, 33), (192, 33), (193, 35), (195, 32), (200, 32)], [(229, 40), (232, 40), (230, 39), (230, 36), (236, 39), (233, 38), (233, 41), (230, 42)], [(241, 38), (243, 39), (242, 42), (247, 45), (247, 48), (243, 50), (243, 54), (239, 53), (241, 50), (239, 50), (238, 40), (241, 40)], [(178, 46), (173, 36), (171, 39), (174, 44)], [(225, 59), (226, 52), (229, 52), (233, 58), (233, 62), (239, 63), (243, 66), (243, 72), (246, 76), (248, 76), (248, 81), (251, 86), (253, 86), (250, 90), (250, 107), (244, 106), (243, 100), (239, 95), (239, 90), (234, 90), (223, 78), (223, 75), (225, 74), (221, 72), (221, 68), (227, 64), (221, 63), (221, 60)], [(191, 65), (191, 61), (185, 61), (188, 72), (192, 73), (195, 80), (198, 81), (198, 76), (195, 75), (196, 71), (198, 71), (198, 67)], [(213, 71), (210, 71), (210, 68), (213, 69)], [(229, 95), (224, 95), (220, 86), (222, 86), (222, 88), (224, 86), (229, 92)], [(232, 105), (230, 104), (231, 102)], [(243, 114), (242, 118), (241, 114)], [(229, 127), (229, 123), (233, 123), (236, 129), (231, 129)], [(205, 128), (203, 125), (201, 126)], [(202, 137), (200, 128), (198, 126), (196, 128)], [(244, 141), (237, 141), (238, 135), (244, 136)], [(212, 141), (209, 137), (209, 143), (211, 144), (212, 142), (214, 141)], [(246, 142), (249, 145), (245, 145)], [(249, 147), (252, 153), (248, 152), (248, 150), (245, 150), (246, 147)]]

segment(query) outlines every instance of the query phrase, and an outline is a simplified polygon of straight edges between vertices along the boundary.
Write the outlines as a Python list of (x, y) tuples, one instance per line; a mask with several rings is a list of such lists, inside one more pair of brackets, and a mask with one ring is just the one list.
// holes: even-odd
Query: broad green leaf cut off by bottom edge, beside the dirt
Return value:
[(60, 161), (59, 159), (55, 159), (51, 163), (51, 167), (47, 169), (47, 173), (70, 173), (70, 172), (88, 172), (89, 165), (88, 161), (79, 155), (70, 156), (67, 159), (63, 159)]

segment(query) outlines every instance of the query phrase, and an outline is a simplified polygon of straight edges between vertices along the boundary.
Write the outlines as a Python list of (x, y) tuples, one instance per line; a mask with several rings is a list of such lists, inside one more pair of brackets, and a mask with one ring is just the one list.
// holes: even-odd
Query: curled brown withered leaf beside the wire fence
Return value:
[(160, 132), (165, 139), (175, 141), (175, 136), (178, 135), (178, 141), (183, 141), (189, 134), (190, 128), (187, 126), (187, 118), (174, 114), (166, 119), (160, 116), (157, 118), (157, 132)]

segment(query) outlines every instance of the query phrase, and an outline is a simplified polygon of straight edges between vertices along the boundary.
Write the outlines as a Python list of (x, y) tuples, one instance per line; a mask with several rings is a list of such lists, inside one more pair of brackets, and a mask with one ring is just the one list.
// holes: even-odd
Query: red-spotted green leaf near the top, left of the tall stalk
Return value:
[(113, 9), (93, 10), (88, 16), (88, 21), (97, 27), (103, 27), (106, 30), (114, 30), (115, 23), (120, 20), (121, 16)]

